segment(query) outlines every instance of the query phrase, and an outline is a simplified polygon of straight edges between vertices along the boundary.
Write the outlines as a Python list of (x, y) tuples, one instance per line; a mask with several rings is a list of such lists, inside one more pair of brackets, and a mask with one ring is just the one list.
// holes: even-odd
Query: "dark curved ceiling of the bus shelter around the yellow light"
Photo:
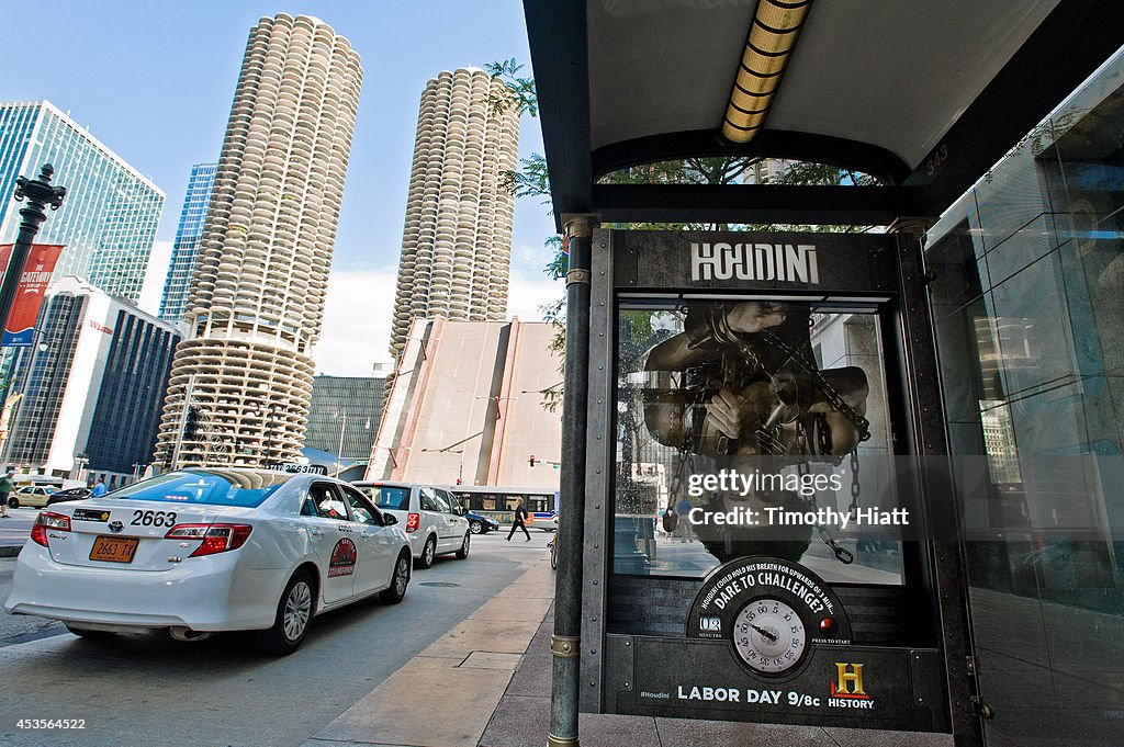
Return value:
[[(756, 6), (525, 0), (560, 219), (935, 216), (1124, 44), (1120, 0), (818, 0), (764, 128), (736, 145), (720, 127)], [(629, 165), (723, 155), (846, 166), (886, 186), (597, 184)]]

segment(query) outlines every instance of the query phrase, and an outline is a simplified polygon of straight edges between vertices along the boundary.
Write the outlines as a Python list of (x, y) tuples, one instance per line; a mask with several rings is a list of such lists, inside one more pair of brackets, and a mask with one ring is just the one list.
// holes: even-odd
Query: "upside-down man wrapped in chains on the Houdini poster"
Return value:
[[(692, 306), (683, 331), (653, 347), (645, 363), (644, 419), (680, 467), (713, 461), (714, 471), (778, 473), (808, 462), (839, 464), (869, 437), (870, 388), (855, 366), (821, 371), (812, 353), (807, 303), (742, 301)], [(686, 482), (678, 471), (672, 488)], [(678, 498), (678, 497), (676, 497)], [(815, 499), (810, 499), (814, 501)], [(706, 509), (807, 509), (792, 491), (716, 491)], [(680, 517), (686, 520), (686, 517)], [(799, 561), (812, 527), (695, 527), (722, 562), (745, 555)]]

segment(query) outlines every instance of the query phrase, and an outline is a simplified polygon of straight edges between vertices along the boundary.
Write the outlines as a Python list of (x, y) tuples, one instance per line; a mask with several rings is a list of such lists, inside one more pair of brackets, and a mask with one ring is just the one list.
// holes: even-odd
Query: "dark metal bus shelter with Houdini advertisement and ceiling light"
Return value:
[[(1102, 658), (1124, 643), (1124, 7), (525, 11), (570, 254), (550, 744), (578, 744), (579, 710), (1111, 744), (1120, 667), (1064, 638)], [(758, 167), (655, 176), (713, 157)], [(846, 175), (794, 182), (794, 163)], [(1044, 262), (1057, 285), (1021, 274)], [(1035, 349), (1036, 289), (1086, 330), (1049, 338), (1064, 375)], [(1084, 440), (1018, 450), (1089, 403)], [(1042, 488), (1070, 473), (1095, 490)], [(1022, 659), (999, 652), (1014, 640)]]

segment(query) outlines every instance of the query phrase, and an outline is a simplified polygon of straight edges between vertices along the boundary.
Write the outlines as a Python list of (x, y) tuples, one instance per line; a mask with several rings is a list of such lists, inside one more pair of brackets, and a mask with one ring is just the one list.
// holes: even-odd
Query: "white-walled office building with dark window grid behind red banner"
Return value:
[(21, 348), (9, 465), (57, 476), (84, 470), (110, 486), (149, 463), (172, 355), (174, 325), (78, 277), (49, 289), (34, 348)]

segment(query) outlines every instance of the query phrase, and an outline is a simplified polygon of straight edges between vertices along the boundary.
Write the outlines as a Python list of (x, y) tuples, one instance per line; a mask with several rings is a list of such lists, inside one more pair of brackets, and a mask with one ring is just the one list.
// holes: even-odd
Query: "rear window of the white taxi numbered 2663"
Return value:
[(257, 508), (290, 475), (268, 472), (191, 470), (170, 472), (114, 491), (109, 498)]

